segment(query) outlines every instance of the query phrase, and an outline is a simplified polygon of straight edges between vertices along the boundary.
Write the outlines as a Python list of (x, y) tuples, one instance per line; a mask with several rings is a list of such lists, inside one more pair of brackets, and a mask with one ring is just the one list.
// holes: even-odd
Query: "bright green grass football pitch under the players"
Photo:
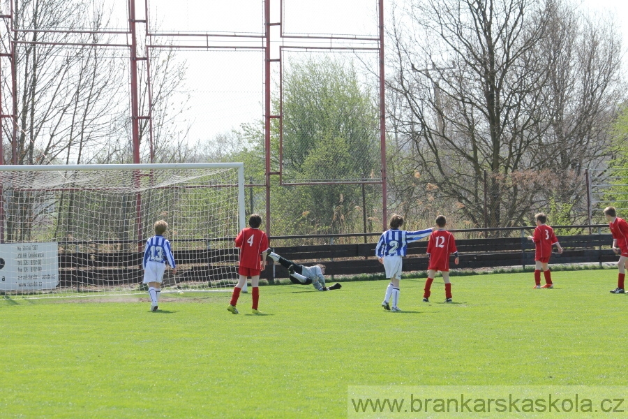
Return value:
[[(350, 385), (625, 385), (616, 270), (264, 286), (160, 302), (0, 300), (3, 418), (341, 418)], [(147, 299), (144, 299), (147, 301)], [(169, 301), (172, 300), (172, 301)], [(611, 417), (611, 416), (605, 416)]]

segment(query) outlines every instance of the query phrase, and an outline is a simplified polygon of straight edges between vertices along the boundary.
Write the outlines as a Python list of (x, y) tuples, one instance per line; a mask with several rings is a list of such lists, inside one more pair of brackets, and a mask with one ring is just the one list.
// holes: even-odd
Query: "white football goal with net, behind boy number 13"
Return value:
[(244, 227), (242, 163), (0, 166), (0, 293), (140, 293), (165, 220), (177, 275), (164, 291), (230, 288)]

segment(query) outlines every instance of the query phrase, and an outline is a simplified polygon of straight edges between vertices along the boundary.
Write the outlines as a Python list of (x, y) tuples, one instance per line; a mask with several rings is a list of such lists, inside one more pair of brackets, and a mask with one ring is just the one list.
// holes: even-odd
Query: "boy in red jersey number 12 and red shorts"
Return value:
[(449, 254), (454, 253), (456, 259), (454, 263), (458, 265), (458, 249), (456, 249), (456, 240), (454, 235), (445, 230), (447, 219), (444, 215), (436, 217), (435, 230), (429, 238), (427, 254), (430, 258), (428, 266), (428, 279), (425, 281), (425, 293), (423, 294), (423, 302), (430, 302), (430, 288), (432, 281), (436, 276), (436, 271), (442, 272), (442, 281), (445, 283), (445, 302), (451, 302), (451, 282), (449, 282)]

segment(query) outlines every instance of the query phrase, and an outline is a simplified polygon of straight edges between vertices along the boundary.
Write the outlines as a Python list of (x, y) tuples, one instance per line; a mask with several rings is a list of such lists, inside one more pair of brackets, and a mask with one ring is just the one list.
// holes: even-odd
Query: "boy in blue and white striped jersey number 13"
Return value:
[(174, 263), (174, 256), (170, 248), (170, 242), (163, 233), (168, 228), (168, 223), (159, 220), (155, 223), (155, 235), (146, 242), (142, 267), (144, 268), (144, 284), (149, 286), (149, 296), (151, 297), (151, 311), (157, 311), (159, 293), (161, 292), (161, 282), (165, 272), (165, 264), (172, 267), (172, 273), (177, 273), (177, 264)]

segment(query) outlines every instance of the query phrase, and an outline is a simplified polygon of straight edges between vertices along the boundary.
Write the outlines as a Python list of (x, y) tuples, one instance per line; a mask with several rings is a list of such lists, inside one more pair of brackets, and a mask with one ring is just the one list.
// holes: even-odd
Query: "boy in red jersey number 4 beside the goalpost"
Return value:
[[(262, 217), (252, 214), (248, 219), (250, 227), (243, 228), (235, 240), (236, 247), (240, 249), (240, 263), (238, 265), (240, 279), (233, 288), (231, 302), (229, 307), (227, 307), (227, 310), (233, 314), (238, 314), (235, 306), (238, 302), (240, 291), (246, 284), (247, 277), (251, 277), (251, 288), (253, 288), (251, 290), (253, 314), (260, 314), (260, 311), (257, 310), (257, 303), (260, 301), (260, 272), (266, 267), (266, 255), (269, 251), (268, 236), (260, 230), (261, 224)], [(260, 254), (262, 255), (261, 259)]]

